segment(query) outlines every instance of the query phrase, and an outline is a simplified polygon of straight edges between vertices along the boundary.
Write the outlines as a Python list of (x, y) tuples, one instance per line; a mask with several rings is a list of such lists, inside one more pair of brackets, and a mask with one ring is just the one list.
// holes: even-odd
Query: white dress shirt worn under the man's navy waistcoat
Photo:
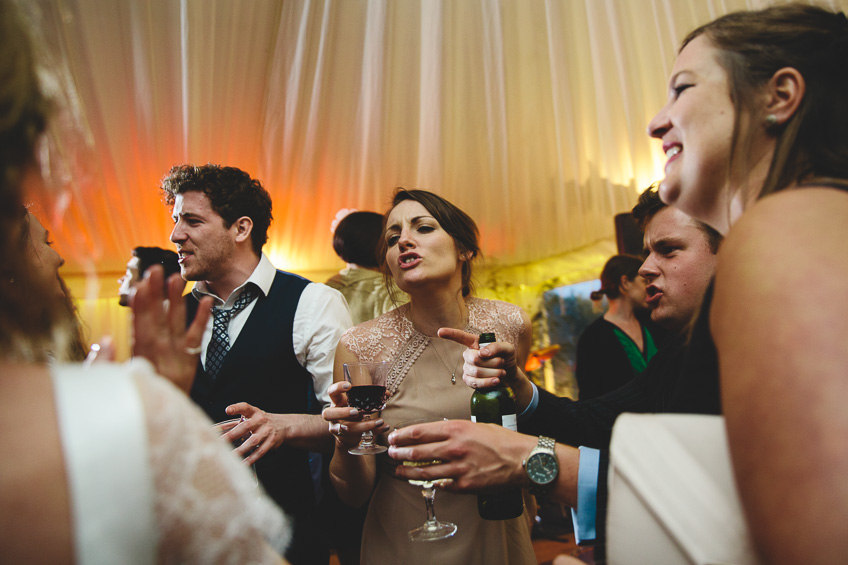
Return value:
[[(277, 269), (263, 253), (253, 273), (226, 300), (209, 292), (203, 281), (194, 283), (191, 292), (198, 300), (203, 296), (211, 296), (215, 299), (216, 306), (223, 305), (225, 309), (229, 309), (236, 303), (248, 283), (256, 285), (267, 296), (276, 274)], [(238, 339), (256, 302), (253, 300), (241, 312), (230, 318), (227, 333), (230, 336), (231, 347)], [(212, 339), (212, 325), (213, 318), (210, 317), (206, 330), (203, 332), (203, 351), (200, 353), (204, 367), (206, 366), (206, 350)], [(315, 396), (324, 406), (330, 404), (327, 388), (333, 383), (333, 359), (336, 355), (336, 346), (339, 344), (342, 333), (352, 325), (347, 302), (339, 291), (314, 282), (303, 289), (294, 314), (292, 344), (298, 363), (312, 375)]]

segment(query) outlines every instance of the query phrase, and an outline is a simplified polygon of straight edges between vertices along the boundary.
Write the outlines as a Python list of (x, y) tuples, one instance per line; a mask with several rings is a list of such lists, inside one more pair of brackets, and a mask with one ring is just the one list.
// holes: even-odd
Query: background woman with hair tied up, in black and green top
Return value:
[(591, 296), (606, 295), (609, 308), (577, 341), (580, 400), (617, 389), (641, 373), (657, 351), (651, 331), (637, 318), (648, 308), (641, 266), (642, 259), (632, 255), (614, 255), (604, 265), (601, 288)]

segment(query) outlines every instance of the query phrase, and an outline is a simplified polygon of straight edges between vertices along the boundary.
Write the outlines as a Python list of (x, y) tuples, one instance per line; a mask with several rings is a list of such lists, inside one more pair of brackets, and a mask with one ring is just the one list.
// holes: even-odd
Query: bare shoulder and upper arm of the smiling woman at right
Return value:
[(848, 416), (837, 400), (848, 394), (846, 219), (848, 193), (788, 190), (746, 211), (719, 250), (710, 322), (722, 407), (763, 547), (781, 547), (798, 524), (816, 524), (801, 541), (824, 547), (841, 524), (821, 521), (822, 509), (848, 512)]

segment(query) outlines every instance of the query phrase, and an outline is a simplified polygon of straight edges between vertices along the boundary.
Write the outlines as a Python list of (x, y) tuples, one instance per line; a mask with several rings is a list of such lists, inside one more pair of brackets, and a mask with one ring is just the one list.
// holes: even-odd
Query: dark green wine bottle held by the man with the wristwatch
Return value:
[[(479, 348), (494, 343), (495, 334), (482, 333)], [(498, 424), (518, 431), (515, 416), (515, 393), (506, 385), (478, 388), (471, 395), (471, 420), (484, 424)], [(508, 520), (524, 512), (521, 489), (477, 495), (477, 511), (486, 520)]]

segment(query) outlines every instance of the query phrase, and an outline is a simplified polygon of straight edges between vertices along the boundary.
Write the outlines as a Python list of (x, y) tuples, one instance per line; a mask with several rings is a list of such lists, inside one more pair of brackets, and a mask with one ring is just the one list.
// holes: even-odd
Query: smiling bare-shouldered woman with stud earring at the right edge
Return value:
[(663, 200), (727, 232), (702, 322), (769, 563), (848, 553), (846, 61), (841, 12), (729, 14), (684, 40), (649, 126), (668, 156)]

